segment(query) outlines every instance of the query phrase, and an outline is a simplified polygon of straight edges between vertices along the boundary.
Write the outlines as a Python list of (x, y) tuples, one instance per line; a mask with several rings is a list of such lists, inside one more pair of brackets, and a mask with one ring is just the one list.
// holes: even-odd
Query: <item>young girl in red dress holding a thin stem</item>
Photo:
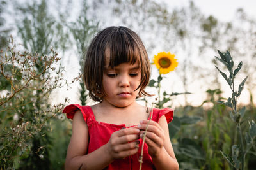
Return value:
[[(84, 62), (84, 82), (90, 98), (99, 103), (63, 110), (73, 119), (65, 169), (139, 169), (150, 108), (136, 98), (150, 96), (144, 90), (149, 78), (148, 55), (135, 32), (108, 27), (95, 36)], [(142, 169), (179, 169), (168, 132), (172, 118), (172, 109), (154, 108)]]

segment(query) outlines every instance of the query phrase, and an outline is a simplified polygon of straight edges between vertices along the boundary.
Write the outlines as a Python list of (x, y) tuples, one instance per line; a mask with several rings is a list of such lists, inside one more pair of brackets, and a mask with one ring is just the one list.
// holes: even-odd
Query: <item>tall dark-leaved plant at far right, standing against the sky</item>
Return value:
[[(223, 156), (227, 159), (227, 161), (236, 169), (244, 169), (245, 168), (245, 157), (246, 154), (250, 152), (251, 148), (253, 147), (256, 151), (255, 147), (255, 139), (256, 139), (256, 124), (254, 120), (248, 121), (249, 129), (248, 132), (243, 134), (243, 129), (241, 127), (244, 122), (247, 122), (243, 120), (245, 107), (238, 110), (237, 108), (237, 100), (239, 96), (241, 95), (241, 92), (244, 87), (244, 83), (246, 82), (248, 76), (244, 78), (244, 80), (239, 84), (238, 91), (235, 89), (235, 78), (236, 74), (240, 71), (240, 69), (243, 66), (243, 62), (239, 62), (236, 69), (233, 69), (234, 67), (234, 61), (233, 58), (230, 55), (230, 52), (220, 52), (218, 50), (218, 53), (220, 57), (216, 57), (218, 61), (220, 61), (224, 66), (227, 68), (229, 72), (229, 76), (225, 74), (223, 71), (221, 71), (217, 66), (216, 69), (220, 72), (220, 74), (223, 76), (223, 78), (227, 81), (232, 93), (231, 97), (228, 97), (227, 102), (220, 101), (220, 103), (225, 104), (226, 106), (230, 107), (232, 111), (230, 111), (230, 117), (232, 121), (236, 124), (237, 132), (238, 132), (238, 138), (239, 143), (235, 143), (232, 145), (232, 155), (227, 155), (224, 152), (221, 152)], [(236, 137), (235, 137), (236, 138)], [(245, 141), (245, 145), (244, 145)]]

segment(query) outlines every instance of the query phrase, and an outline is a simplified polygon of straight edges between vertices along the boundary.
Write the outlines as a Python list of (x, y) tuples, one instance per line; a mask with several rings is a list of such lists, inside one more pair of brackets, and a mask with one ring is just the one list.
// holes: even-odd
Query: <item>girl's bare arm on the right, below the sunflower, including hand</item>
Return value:
[[(145, 132), (148, 120), (141, 121), (139, 128), (141, 134)], [(179, 164), (173, 152), (169, 137), (168, 124), (165, 117), (159, 119), (158, 124), (150, 121), (145, 138), (148, 145), (148, 153), (152, 157), (156, 169), (179, 169)]]

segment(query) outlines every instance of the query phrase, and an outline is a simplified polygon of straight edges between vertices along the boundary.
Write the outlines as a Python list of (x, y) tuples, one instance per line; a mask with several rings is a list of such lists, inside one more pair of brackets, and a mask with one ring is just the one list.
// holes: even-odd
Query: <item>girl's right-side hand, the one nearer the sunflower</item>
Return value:
[[(140, 131), (140, 138), (143, 139), (143, 134), (147, 128), (149, 120), (141, 120), (138, 128)], [(148, 153), (151, 157), (156, 157), (164, 145), (164, 131), (157, 122), (150, 121), (148, 124), (148, 130), (145, 136), (145, 143), (148, 145)]]

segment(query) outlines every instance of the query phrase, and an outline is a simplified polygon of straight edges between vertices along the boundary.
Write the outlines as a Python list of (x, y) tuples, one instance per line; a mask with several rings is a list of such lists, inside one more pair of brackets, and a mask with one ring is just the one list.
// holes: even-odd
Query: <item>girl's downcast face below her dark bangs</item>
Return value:
[[(106, 96), (103, 102), (116, 107), (126, 107), (135, 102), (140, 91), (141, 69), (136, 62), (122, 63), (115, 67), (104, 67), (103, 88)], [(136, 90), (137, 89), (137, 90)]]

